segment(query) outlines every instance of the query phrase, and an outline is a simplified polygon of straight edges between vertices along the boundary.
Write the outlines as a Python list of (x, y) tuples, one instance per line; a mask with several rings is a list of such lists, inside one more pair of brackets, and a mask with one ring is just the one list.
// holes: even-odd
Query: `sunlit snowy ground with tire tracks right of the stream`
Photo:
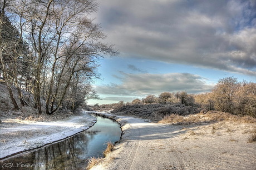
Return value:
[(91, 169), (255, 169), (255, 123), (220, 121), (190, 125), (114, 116), (122, 137), (115, 151)]

